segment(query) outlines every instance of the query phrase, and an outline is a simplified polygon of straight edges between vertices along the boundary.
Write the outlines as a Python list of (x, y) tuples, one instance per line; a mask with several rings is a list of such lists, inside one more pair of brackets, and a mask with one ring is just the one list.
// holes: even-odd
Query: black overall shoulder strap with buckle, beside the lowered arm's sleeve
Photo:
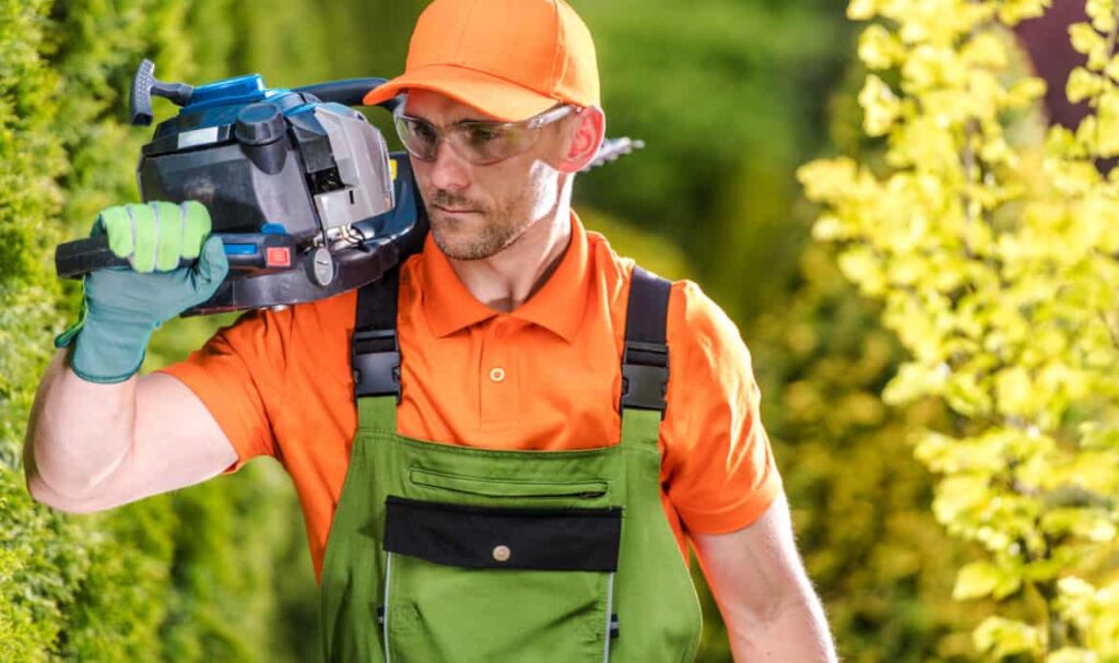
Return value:
[(627, 408), (658, 410), (665, 418), (668, 392), (668, 295), (671, 282), (633, 267), (622, 350), (622, 401)]

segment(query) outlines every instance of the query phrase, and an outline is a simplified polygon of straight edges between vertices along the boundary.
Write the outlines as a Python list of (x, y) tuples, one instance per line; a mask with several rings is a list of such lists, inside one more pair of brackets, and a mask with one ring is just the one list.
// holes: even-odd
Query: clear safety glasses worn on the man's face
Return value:
[(426, 120), (403, 113), (399, 104), (393, 113), (396, 133), (410, 154), (421, 161), (434, 161), (439, 143), (446, 141), (454, 153), (470, 163), (485, 165), (516, 157), (536, 144), (540, 129), (583, 108), (562, 105), (520, 122), (468, 120), (450, 126), (435, 126)]

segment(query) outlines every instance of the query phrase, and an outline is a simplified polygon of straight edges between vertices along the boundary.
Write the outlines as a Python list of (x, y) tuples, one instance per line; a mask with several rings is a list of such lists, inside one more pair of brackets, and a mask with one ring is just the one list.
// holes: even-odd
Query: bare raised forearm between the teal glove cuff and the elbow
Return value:
[(126, 457), (135, 429), (137, 378), (87, 382), (65, 359), (59, 350), (43, 377), (25, 448), (28, 487), (48, 504), (95, 491)]

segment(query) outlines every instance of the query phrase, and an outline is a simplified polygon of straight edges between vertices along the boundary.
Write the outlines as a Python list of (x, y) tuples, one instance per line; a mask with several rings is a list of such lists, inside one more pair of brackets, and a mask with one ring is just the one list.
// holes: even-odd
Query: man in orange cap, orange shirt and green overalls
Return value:
[(134, 268), (90, 275), (58, 340), (35, 498), (88, 512), (276, 457), (329, 661), (690, 660), (687, 541), (737, 660), (834, 660), (737, 330), (571, 210), (604, 132), (583, 22), (563, 0), (435, 0), (366, 103), (398, 94), (431, 233), (360, 293), (248, 314), (137, 378), (151, 330), (227, 266), (197, 203), (102, 212)]

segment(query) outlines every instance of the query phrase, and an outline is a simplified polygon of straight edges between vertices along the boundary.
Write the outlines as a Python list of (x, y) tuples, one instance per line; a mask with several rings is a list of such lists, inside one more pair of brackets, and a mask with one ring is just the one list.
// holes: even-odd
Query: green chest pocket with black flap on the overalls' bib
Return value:
[[(572, 484), (566, 493), (589, 486)], [(533, 500), (524, 487), (515, 502)], [(549, 484), (540, 496), (552, 501), (561, 492), (563, 484)], [(388, 661), (608, 660), (620, 508), (491, 506), (394, 495), (385, 506)]]

